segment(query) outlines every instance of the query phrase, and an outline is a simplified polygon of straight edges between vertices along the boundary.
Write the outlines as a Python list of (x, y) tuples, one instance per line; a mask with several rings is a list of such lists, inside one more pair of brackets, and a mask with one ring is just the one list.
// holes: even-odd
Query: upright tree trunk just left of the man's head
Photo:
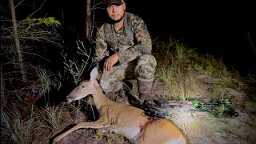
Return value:
[(91, 0), (86, 0), (86, 38), (90, 38), (90, 31), (91, 31)]

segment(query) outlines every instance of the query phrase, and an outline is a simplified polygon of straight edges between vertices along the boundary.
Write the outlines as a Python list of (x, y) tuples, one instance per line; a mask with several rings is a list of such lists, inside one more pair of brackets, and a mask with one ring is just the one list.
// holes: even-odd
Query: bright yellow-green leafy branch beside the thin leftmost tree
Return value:
[(48, 18), (26, 18), (25, 19), (26, 22), (33, 24), (36, 22), (39, 23), (44, 23), (46, 26), (61, 26), (61, 22), (59, 22), (58, 20), (56, 20), (54, 17), (48, 17)]

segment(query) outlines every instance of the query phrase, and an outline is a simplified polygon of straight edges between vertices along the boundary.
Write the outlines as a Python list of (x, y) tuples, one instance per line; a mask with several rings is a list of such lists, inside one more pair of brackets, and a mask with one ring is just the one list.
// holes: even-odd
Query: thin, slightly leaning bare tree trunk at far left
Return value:
[(18, 39), (18, 29), (17, 29), (17, 22), (16, 22), (16, 16), (15, 16), (14, 0), (9, 0), (9, 6), (10, 6), (11, 18), (14, 26), (14, 41), (15, 41), (15, 46), (18, 54), (18, 65), (20, 67), (20, 72), (22, 74), (23, 81), (26, 82), (26, 71), (24, 68), (21, 46)]

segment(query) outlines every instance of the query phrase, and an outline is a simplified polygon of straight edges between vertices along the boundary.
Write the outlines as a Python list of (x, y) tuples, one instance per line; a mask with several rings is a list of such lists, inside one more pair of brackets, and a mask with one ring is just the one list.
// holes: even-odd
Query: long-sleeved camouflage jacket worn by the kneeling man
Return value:
[(95, 60), (117, 53), (119, 64), (130, 62), (142, 54), (151, 54), (150, 33), (142, 18), (126, 12), (120, 38), (115, 35), (114, 26), (105, 23), (96, 35)]

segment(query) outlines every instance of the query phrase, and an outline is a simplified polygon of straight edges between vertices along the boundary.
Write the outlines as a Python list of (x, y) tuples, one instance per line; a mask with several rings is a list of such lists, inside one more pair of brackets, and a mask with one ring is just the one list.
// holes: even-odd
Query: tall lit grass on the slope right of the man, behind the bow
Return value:
[[(166, 98), (186, 100), (191, 94), (200, 90), (200, 82), (191, 77), (190, 71), (194, 70), (199, 75), (212, 79), (214, 85), (211, 98), (218, 98), (220, 90), (226, 87), (239, 88), (242, 83), (238, 71), (227, 70), (221, 58), (214, 58), (210, 54), (198, 55), (194, 50), (188, 48), (181, 42), (170, 38), (169, 42), (154, 42), (155, 55), (164, 61), (158, 62), (156, 75), (166, 83), (171, 95)], [(162, 52), (167, 51), (166, 54)]]

